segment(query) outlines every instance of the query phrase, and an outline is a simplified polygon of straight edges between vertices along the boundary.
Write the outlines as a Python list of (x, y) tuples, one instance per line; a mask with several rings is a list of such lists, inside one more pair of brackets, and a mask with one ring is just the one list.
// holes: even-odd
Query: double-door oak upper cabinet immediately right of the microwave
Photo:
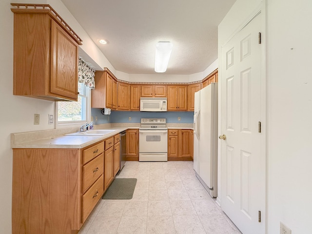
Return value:
[(168, 85), (167, 110), (187, 110), (187, 85)]

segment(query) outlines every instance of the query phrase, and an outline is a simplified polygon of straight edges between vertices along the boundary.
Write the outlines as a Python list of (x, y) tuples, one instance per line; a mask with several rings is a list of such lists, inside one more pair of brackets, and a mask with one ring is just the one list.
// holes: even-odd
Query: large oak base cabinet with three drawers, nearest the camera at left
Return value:
[(103, 195), (104, 142), (13, 149), (12, 234), (76, 234)]

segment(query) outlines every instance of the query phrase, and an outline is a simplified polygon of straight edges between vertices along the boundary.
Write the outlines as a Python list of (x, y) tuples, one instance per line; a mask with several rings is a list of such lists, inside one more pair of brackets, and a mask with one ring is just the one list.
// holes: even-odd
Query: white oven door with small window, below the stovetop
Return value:
[(139, 153), (167, 153), (168, 130), (139, 130)]

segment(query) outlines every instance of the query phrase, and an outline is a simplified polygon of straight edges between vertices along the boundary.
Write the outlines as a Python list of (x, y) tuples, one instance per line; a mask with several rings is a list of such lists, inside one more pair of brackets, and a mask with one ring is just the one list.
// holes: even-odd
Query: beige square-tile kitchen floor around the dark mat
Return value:
[(131, 200), (103, 200), (78, 234), (241, 234), (197, 180), (191, 161), (127, 161)]

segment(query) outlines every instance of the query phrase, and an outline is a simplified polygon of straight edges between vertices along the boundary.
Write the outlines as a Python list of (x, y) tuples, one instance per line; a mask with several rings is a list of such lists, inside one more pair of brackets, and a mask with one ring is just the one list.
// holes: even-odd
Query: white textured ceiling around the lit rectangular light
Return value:
[[(155, 45), (173, 43), (165, 74), (203, 72), (217, 59), (217, 26), (235, 0), (62, 0), (118, 71), (156, 74)], [(98, 39), (109, 41), (102, 45)]]

